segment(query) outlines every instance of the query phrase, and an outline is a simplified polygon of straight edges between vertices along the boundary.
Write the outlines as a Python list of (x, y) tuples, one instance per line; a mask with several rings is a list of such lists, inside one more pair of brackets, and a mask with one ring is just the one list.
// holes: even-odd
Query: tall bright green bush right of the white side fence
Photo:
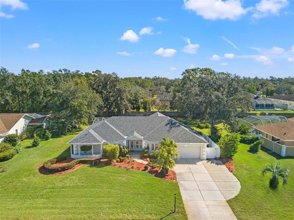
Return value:
[(220, 147), (220, 158), (225, 159), (235, 155), (238, 151), (240, 141), (239, 133), (227, 134), (220, 138), (218, 145)]

